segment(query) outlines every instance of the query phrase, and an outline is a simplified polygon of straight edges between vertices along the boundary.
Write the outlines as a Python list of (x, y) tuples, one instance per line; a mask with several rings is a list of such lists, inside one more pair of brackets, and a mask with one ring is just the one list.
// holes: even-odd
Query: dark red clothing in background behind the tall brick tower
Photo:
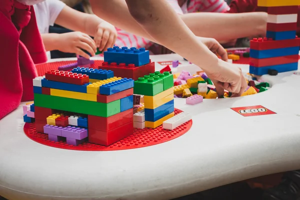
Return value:
[[(266, 7), (257, 6), (257, 0), (232, 0), (230, 2), (230, 10), (227, 12), (254, 12), (263, 11), (266, 12)], [(298, 6), (298, 20), (297, 20), (297, 35), (300, 36), (300, 6)]]

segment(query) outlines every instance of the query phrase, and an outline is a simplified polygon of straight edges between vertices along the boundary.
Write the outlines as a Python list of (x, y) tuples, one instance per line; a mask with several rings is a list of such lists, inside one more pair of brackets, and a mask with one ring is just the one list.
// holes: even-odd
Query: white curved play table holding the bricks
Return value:
[[(0, 194), (9, 200), (170, 199), (299, 169), (300, 75), (263, 79), (272, 88), (256, 95), (204, 99), (193, 106), (176, 98), (175, 107), (192, 113), (191, 129), (171, 141), (131, 150), (39, 144), (23, 133), (20, 105), (0, 120)], [(277, 114), (243, 117), (230, 109), (249, 105)]]

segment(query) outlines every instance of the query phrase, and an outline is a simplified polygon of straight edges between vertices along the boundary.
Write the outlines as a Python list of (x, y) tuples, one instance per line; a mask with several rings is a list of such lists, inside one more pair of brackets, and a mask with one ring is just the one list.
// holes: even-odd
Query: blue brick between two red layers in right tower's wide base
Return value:
[(299, 47), (286, 47), (286, 48), (273, 48), (267, 50), (255, 50), (250, 49), (250, 57), (253, 58), (269, 58), (269, 57), (279, 57), (285, 55), (295, 55), (299, 53)]

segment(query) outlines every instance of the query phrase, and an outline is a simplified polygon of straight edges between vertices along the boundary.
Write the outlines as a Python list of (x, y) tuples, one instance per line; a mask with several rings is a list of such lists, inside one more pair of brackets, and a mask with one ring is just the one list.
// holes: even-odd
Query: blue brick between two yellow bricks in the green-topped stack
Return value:
[(155, 109), (145, 108), (144, 111), (146, 121), (157, 121), (174, 111), (174, 99), (156, 107)]

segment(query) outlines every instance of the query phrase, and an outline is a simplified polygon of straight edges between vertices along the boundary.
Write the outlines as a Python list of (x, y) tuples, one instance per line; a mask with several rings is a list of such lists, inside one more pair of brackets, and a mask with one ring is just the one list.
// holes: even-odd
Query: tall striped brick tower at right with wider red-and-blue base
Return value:
[(258, 0), (267, 9), (265, 38), (250, 41), (249, 72), (255, 75), (297, 70), (299, 39), (296, 38), (300, 0)]

